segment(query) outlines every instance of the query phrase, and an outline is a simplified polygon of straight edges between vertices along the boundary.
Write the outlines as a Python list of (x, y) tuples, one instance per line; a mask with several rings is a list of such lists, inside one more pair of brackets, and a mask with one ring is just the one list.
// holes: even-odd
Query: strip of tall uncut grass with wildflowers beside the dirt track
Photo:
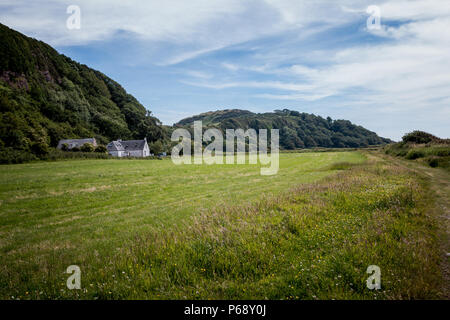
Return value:
[[(26, 269), (2, 285), (20, 284), (21, 297), (26, 288), (26, 297), (58, 299), (439, 297), (427, 182), (380, 159), (337, 167), (335, 176), (253, 204), (149, 226), (110, 256), (87, 252), (76, 261), (84, 270), (82, 290), (64, 289), (66, 275), (39, 279)], [(55, 261), (42, 263), (45, 269)], [(369, 265), (381, 268), (379, 291), (366, 287)]]

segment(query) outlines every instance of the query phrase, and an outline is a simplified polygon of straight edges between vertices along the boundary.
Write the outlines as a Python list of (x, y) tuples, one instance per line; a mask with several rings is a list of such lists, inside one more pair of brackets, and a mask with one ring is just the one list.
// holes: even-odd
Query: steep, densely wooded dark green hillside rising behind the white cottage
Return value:
[(164, 131), (117, 82), (0, 24), (2, 157), (42, 157), (64, 138), (152, 142)]

